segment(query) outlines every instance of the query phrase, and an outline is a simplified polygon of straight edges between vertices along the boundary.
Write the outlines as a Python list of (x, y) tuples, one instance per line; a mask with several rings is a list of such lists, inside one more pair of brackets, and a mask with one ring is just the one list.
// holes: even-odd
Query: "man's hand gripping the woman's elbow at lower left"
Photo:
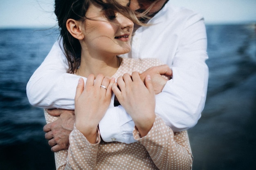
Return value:
[(47, 109), (47, 113), (52, 116), (59, 116), (58, 119), (43, 127), (46, 132), (45, 139), (48, 139), (49, 146), (53, 152), (65, 150), (69, 147), (69, 135), (73, 130), (75, 115), (74, 110)]

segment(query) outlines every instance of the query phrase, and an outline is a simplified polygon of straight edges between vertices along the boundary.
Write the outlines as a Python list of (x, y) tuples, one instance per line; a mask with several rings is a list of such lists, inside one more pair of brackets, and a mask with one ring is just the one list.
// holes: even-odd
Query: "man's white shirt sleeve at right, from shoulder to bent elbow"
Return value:
[(201, 117), (209, 77), (207, 59), (204, 20), (195, 14), (184, 24), (173, 57), (173, 78), (166, 83), (162, 93), (156, 95), (155, 112), (175, 132), (192, 128)]

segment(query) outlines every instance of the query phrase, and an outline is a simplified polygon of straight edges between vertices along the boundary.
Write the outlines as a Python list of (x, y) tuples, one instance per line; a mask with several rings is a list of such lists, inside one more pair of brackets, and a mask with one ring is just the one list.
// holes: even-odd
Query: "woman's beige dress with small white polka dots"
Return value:
[[(123, 58), (115, 78), (133, 71), (143, 72), (151, 66), (161, 65), (157, 59)], [(47, 123), (57, 117), (45, 112)], [(173, 132), (158, 115), (153, 127), (144, 137), (134, 128), (137, 142), (104, 142), (98, 137), (90, 144), (76, 129), (70, 134), (70, 147), (55, 153), (57, 170), (190, 170), (192, 153), (187, 131)]]

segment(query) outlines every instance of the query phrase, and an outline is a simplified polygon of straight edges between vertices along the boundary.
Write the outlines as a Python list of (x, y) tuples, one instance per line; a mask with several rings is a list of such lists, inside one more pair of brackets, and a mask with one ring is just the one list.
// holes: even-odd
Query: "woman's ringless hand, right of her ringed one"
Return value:
[(146, 76), (144, 84), (138, 72), (132, 76), (124, 74), (112, 85), (112, 91), (132, 117), (141, 137), (146, 136), (155, 121), (155, 91), (150, 76)]

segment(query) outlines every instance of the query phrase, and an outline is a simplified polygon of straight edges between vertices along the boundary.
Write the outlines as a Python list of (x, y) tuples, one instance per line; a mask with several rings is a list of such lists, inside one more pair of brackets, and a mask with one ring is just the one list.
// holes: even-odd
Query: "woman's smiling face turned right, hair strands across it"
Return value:
[[(126, 6), (129, 1), (119, 0), (119, 3)], [(91, 20), (87, 19), (83, 22), (82, 50), (89, 51), (91, 55), (95, 53), (101, 55), (128, 53), (131, 49), (133, 22), (120, 13), (106, 10), (103, 11), (101, 7), (90, 5), (86, 17)]]

